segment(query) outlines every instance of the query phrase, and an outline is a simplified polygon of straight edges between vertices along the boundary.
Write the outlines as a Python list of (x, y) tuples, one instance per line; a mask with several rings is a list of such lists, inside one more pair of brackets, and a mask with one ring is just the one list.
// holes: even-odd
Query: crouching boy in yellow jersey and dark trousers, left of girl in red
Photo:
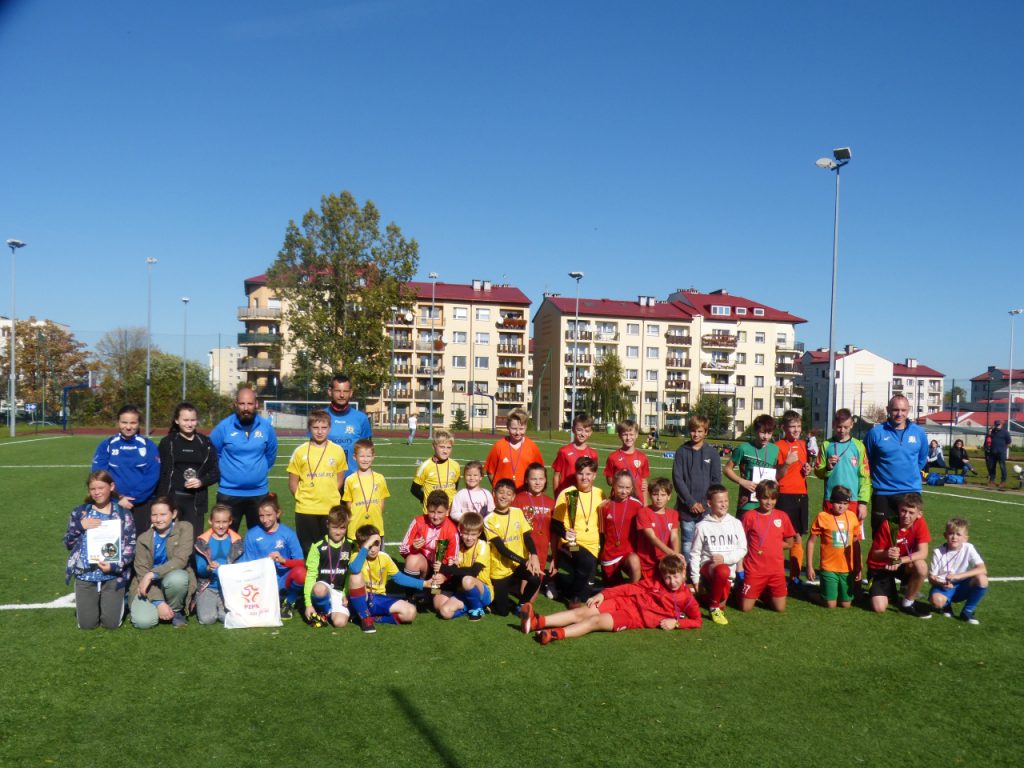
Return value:
[(505, 478), (495, 483), (495, 511), (483, 521), (484, 535), (490, 545), (490, 584), (495, 599), (490, 612), (507, 616), (509, 592), (519, 597), (519, 604), (534, 599), (541, 589), (544, 570), (530, 537), (532, 528), (526, 515), (513, 507), (515, 483)]

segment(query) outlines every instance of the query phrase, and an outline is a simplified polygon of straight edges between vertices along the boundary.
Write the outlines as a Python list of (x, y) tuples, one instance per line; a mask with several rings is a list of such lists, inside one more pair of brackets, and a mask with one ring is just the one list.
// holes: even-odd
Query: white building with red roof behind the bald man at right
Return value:
[[(802, 359), (802, 383), (811, 424), (824, 428), (828, 408), (828, 349), (807, 352)], [(943, 375), (907, 357), (892, 362), (867, 349), (847, 345), (836, 353), (836, 408), (848, 408), (867, 421), (885, 418), (886, 404), (895, 394), (910, 402), (910, 418), (920, 419), (942, 410)]]

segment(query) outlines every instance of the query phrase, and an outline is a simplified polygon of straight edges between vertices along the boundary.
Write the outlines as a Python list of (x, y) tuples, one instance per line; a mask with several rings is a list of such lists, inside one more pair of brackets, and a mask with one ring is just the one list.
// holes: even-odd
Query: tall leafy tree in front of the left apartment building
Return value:
[(364, 398), (388, 381), (385, 324), (412, 306), (407, 284), (418, 263), (416, 241), (393, 222), (381, 230), (376, 206), (359, 208), (348, 191), (321, 198), (321, 210), (306, 211), (301, 226), (289, 221), (268, 285), (284, 300), (288, 348), (304, 355), (317, 391), (339, 369)]

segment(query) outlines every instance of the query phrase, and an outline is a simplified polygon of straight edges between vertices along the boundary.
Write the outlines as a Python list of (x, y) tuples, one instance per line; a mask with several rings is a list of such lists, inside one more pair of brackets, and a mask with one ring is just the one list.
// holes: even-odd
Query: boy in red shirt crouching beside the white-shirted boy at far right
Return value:
[(876, 613), (885, 613), (890, 598), (898, 596), (899, 579), (906, 586), (900, 610), (918, 618), (932, 617), (931, 610), (914, 602), (928, 578), (928, 544), (932, 541), (924, 508), (921, 494), (907, 494), (899, 503), (899, 523), (887, 521), (874, 529), (867, 574), (871, 580), (871, 610)]

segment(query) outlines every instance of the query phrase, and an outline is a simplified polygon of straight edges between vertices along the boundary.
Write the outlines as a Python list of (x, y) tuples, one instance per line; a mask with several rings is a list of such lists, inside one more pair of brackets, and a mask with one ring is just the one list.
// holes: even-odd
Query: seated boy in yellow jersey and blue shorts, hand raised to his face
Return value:
[(377, 631), (375, 624), (412, 624), (416, 606), (387, 594), (387, 583), (411, 589), (429, 588), (434, 580), (413, 579), (398, 570), (394, 560), (381, 549), (381, 534), (373, 525), (364, 525), (355, 531), (359, 545), (358, 554), (348, 570), (348, 604), (359, 618), (359, 628), (367, 634)]

